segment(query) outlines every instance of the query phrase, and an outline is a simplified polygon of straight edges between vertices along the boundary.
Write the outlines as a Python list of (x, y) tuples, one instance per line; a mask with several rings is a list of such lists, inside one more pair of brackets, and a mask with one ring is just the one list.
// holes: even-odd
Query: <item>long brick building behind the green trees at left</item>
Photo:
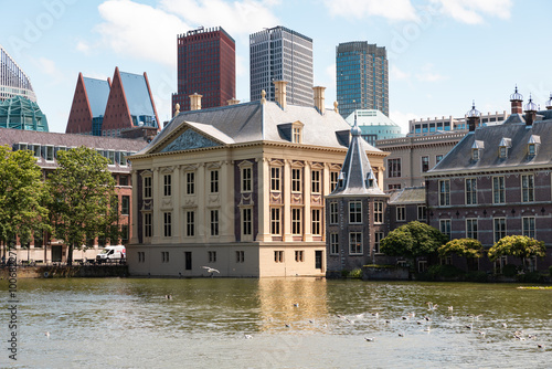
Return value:
[[(127, 244), (131, 231), (131, 187), (130, 164), (127, 157), (142, 149), (147, 144), (144, 140), (94, 137), (70, 134), (54, 134), (21, 129), (0, 128), (0, 145), (7, 145), (12, 150), (30, 150), (36, 158), (36, 164), (44, 172), (54, 171), (57, 168), (57, 152), (74, 147), (89, 147), (96, 149), (100, 155), (109, 159), (108, 169), (117, 182), (117, 194), (120, 205), (119, 225), (123, 231), (120, 242)], [(75, 250), (75, 261), (95, 259), (104, 244), (95, 240), (86, 251)], [(4, 250), (2, 250), (3, 254)], [(35, 238), (29, 247), (17, 245), (19, 261), (33, 260), (38, 263), (66, 262), (67, 246), (49, 234)]]

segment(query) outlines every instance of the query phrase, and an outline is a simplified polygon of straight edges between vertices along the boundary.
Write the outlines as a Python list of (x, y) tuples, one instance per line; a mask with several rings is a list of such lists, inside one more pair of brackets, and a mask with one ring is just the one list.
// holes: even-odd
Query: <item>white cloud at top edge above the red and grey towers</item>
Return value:
[[(167, 12), (181, 17), (192, 28), (222, 27), (231, 35), (253, 33), (265, 27), (278, 25), (269, 9), (278, 1), (161, 0)], [(268, 6), (268, 7), (267, 7)]]

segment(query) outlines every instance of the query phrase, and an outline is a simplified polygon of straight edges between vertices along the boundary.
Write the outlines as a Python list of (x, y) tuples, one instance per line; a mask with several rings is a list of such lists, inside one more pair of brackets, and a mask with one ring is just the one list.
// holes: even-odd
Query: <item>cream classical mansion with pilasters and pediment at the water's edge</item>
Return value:
[[(261, 101), (180, 112), (131, 157), (132, 275), (323, 276), (325, 196), (337, 186), (350, 126), (325, 109)], [(193, 99), (191, 106), (200, 106)], [(362, 140), (381, 180), (385, 152)]]

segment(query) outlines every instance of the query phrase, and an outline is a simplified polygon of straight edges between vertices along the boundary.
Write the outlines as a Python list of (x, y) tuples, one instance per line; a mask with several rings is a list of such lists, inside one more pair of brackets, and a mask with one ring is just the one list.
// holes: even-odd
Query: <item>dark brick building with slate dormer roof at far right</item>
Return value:
[[(425, 177), (429, 225), (452, 239), (473, 238), (486, 247), (521, 234), (552, 245), (552, 99), (539, 110), (522, 96), (510, 97), (512, 114), (501, 125), (476, 128), (480, 114), (468, 112), (468, 134)], [(517, 263), (503, 257), (498, 263)], [(552, 262), (527, 261), (539, 270)], [(491, 268), (481, 260), (481, 268)]]

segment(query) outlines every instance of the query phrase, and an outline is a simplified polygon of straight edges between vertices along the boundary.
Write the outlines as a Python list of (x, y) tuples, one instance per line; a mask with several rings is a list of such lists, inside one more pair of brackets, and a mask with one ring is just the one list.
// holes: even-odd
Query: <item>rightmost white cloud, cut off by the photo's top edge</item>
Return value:
[(482, 23), (485, 17), (509, 19), (511, 0), (432, 0), (443, 14), (467, 24)]

